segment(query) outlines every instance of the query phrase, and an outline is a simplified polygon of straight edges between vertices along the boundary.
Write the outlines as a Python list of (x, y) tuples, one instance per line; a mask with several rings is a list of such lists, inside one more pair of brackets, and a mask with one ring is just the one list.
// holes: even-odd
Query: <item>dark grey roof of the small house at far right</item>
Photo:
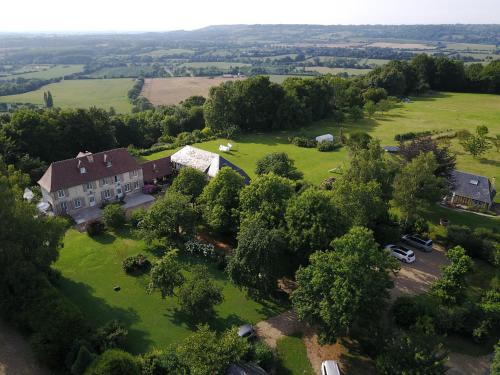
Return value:
[(493, 202), (496, 192), (487, 177), (453, 171), (452, 178), (454, 182), (453, 192), (456, 195), (488, 204)]

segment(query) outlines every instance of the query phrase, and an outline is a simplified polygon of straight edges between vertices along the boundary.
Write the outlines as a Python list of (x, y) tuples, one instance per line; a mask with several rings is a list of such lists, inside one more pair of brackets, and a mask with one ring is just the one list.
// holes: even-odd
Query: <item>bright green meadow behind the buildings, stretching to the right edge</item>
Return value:
[[(234, 145), (230, 153), (224, 154), (231, 162), (243, 168), (251, 177), (255, 176), (255, 162), (271, 152), (286, 152), (295, 160), (297, 167), (304, 173), (305, 179), (319, 184), (332, 176), (331, 169), (341, 167), (348, 161), (346, 148), (339, 151), (319, 152), (316, 149), (300, 148), (288, 142), (292, 135), (316, 135), (331, 133), (338, 135), (340, 127), (344, 133), (366, 131), (381, 140), (382, 145), (396, 145), (394, 136), (409, 131), (459, 130), (474, 131), (477, 125), (486, 125), (490, 134), (500, 133), (500, 96), (486, 94), (439, 93), (434, 96), (414, 98), (411, 103), (401, 104), (374, 119), (342, 123), (340, 126), (332, 120), (324, 120), (303, 130), (273, 133), (247, 134), (231, 141)], [(213, 140), (196, 145), (212, 152), (219, 152), (220, 144), (226, 139)], [(489, 150), (484, 158), (476, 160), (465, 154), (456, 140), (452, 149), (457, 152), (459, 169), (500, 179), (500, 155), (495, 149)], [(163, 151), (152, 154), (146, 159), (153, 160), (173, 153)], [(498, 198), (497, 198), (498, 200)]]

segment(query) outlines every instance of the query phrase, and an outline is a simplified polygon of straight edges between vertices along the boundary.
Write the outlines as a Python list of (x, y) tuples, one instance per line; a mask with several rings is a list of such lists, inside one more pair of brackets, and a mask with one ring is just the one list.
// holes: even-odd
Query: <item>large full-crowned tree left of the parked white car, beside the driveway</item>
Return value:
[(397, 264), (380, 251), (370, 230), (353, 227), (332, 242), (334, 251), (311, 255), (296, 274), (292, 303), (300, 319), (320, 327), (325, 342), (370, 324), (384, 311)]

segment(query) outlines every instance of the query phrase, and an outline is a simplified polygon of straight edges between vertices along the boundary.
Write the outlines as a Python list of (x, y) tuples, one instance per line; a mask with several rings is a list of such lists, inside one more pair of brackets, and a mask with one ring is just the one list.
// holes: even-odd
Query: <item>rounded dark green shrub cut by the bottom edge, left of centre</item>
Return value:
[(141, 371), (132, 354), (113, 349), (96, 358), (85, 375), (141, 375)]

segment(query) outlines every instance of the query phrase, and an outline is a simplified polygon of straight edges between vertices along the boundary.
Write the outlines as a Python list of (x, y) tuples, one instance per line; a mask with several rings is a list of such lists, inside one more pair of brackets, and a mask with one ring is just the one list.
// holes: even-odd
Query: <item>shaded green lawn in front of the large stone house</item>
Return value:
[[(178, 311), (175, 297), (162, 300), (159, 293), (149, 295), (147, 275), (133, 277), (123, 272), (122, 260), (144, 252), (144, 246), (128, 231), (92, 239), (86, 233), (70, 229), (55, 264), (62, 273), (62, 292), (81, 308), (93, 325), (111, 319), (120, 319), (127, 325), (127, 346), (133, 353), (177, 343), (195, 329), (193, 322)], [(145, 254), (154, 259), (153, 255)], [(187, 277), (194, 262), (196, 260), (183, 259)], [(217, 318), (210, 322), (212, 327), (225, 329), (247, 322), (257, 323), (281, 312), (276, 304), (249, 299), (223, 272), (212, 266), (210, 273), (223, 287), (225, 298), (216, 308)], [(115, 285), (121, 287), (119, 292), (113, 290)]]

